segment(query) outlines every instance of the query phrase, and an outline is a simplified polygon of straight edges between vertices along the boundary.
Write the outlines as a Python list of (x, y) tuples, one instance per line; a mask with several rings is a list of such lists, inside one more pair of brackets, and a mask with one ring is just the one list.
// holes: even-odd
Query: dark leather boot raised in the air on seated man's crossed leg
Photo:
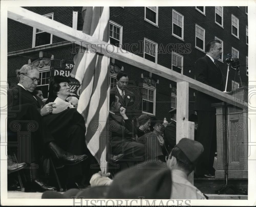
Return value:
[(64, 151), (55, 142), (50, 142), (48, 145), (50, 153), (63, 165), (75, 165), (87, 159), (87, 155), (73, 155), (72, 153)]

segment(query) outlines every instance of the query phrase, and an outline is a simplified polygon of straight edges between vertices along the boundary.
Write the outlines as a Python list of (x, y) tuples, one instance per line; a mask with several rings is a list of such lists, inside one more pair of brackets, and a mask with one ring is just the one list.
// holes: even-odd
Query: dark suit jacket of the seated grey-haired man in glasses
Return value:
[(10, 91), (10, 107), (30, 103), (38, 110), (38, 112), (40, 112), (41, 107), (44, 106), (44, 102), (42, 102), (38, 96), (34, 95), (35, 99), (29, 91), (25, 90), (21, 86), (13, 87)]

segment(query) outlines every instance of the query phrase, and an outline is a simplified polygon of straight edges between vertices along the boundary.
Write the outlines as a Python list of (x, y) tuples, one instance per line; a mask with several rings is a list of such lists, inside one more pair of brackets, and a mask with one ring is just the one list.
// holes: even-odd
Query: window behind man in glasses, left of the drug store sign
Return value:
[(39, 78), (40, 83), (38, 83), (37, 89), (41, 89), (43, 97), (48, 98), (50, 68), (39, 69)]

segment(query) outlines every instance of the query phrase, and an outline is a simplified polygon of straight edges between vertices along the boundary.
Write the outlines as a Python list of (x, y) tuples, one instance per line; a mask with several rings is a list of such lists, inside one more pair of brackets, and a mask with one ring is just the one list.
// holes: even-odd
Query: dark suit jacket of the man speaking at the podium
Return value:
[[(196, 80), (223, 91), (223, 76), (219, 67), (207, 55), (197, 59), (195, 64)], [(221, 102), (220, 100), (197, 91), (194, 105), (195, 111), (214, 111), (212, 103)]]

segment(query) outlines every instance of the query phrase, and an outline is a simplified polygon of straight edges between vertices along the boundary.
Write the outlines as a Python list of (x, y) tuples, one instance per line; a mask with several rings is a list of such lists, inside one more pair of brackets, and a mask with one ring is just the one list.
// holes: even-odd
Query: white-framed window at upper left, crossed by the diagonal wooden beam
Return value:
[[(53, 13), (42, 15), (49, 19), (53, 19)], [(32, 39), (32, 48), (52, 44), (52, 34), (37, 29), (36, 27), (33, 28), (33, 39)]]

